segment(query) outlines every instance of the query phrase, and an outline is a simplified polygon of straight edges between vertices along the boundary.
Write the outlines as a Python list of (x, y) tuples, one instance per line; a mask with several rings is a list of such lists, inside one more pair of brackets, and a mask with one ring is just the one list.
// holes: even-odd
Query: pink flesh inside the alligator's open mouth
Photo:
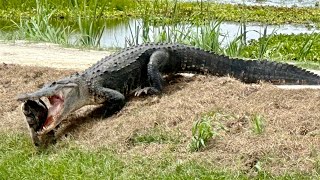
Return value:
[(59, 95), (54, 95), (48, 97), (49, 102), (50, 102), (50, 107), (48, 109), (48, 116), (43, 124), (42, 128), (48, 127), (56, 118), (58, 114), (60, 114), (60, 111), (63, 107), (63, 98)]

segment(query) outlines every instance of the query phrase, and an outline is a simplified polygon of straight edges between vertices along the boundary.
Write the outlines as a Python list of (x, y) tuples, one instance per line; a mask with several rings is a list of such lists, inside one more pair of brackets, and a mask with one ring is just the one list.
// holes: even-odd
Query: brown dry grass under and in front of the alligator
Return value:
[[(26, 131), (19, 104), (13, 97), (36, 89), (49, 80), (70, 71), (49, 68), (0, 65), (0, 129)], [(320, 149), (319, 90), (281, 90), (269, 84), (242, 84), (231, 78), (197, 76), (181, 78), (167, 86), (160, 96), (134, 98), (118, 114), (101, 120), (85, 115), (92, 109), (75, 114), (66, 123), (64, 133), (79, 146), (112, 147), (128, 157), (141, 154), (161, 157), (173, 153), (177, 159), (198, 159), (217, 167), (251, 171), (260, 162), (262, 169), (278, 174), (291, 171), (316, 171)], [(1, 103), (2, 104), (2, 103)], [(210, 142), (202, 152), (190, 153), (194, 119), (219, 111), (226, 117), (220, 123), (227, 130)], [(250, 117), (264, 117), (265, 130), (252, 131)], [(132, 145), (136, 132), (160, 127), (168, 135), (180, 134), (179, 143)]]

